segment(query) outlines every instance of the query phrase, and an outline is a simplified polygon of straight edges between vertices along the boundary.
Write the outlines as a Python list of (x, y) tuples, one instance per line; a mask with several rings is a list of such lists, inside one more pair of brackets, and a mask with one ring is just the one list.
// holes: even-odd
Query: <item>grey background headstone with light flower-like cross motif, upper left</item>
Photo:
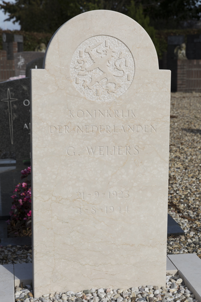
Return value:
[(23, 51), (14, 54), (15, 76), (26, 75), (27, 63), (33, 59), (43, 58), (44, 53), (37, 51)]

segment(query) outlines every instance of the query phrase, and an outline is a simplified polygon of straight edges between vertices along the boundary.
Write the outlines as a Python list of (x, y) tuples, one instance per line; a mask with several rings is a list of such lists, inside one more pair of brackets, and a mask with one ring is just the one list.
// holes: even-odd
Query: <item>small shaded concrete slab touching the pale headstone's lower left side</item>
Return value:
[(32, 263), (14, 264), (14, 285), (19, 286), (23, 282), (23, 286), (32, 283)]

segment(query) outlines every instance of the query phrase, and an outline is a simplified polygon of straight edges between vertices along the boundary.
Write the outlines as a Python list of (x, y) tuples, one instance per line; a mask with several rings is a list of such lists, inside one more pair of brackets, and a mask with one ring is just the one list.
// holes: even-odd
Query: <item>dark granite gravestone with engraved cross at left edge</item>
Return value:
[(30, 159), (30, 79), (0, 83), (0, 218), (11, 210), (23, 160)]

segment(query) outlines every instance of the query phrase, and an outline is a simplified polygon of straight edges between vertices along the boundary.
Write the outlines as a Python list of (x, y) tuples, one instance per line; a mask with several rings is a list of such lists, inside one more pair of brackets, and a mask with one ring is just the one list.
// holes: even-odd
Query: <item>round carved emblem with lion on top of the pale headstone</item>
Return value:
[(111, 101), (123, 95), (134, 74), (130, 50), (110, 36), (86, 39), (71, 59), (71, 79), (76, 89), (92, 101)]

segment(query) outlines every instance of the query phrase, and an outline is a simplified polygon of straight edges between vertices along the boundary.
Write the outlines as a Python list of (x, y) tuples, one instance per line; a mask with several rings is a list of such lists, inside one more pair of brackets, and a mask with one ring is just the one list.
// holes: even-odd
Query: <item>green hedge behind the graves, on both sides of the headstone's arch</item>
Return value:
[[(34, 51), (36, 46), (40, 43), (45, 43), (46, 46), (49, 43), (49, 40), (52, 37), (52, 34), (42, 34), (42, 33), (31, 33), (25, 31), (2, 31), (0, 30), (0, 49), (2, 49), (2, 33), (12, 33), (19, 34), (24, 36), (24, 51)], [(174, 29), (174, 30), (163, 30), (156, 31), (156, 38), (159, 41), (159, 59), (162, 59), (164, 51), (167, 51), (167, 40), (168, 36), (177, 36), (177, 35), (187, 35), (191, 34), (201, 34), (201, 29)]]

